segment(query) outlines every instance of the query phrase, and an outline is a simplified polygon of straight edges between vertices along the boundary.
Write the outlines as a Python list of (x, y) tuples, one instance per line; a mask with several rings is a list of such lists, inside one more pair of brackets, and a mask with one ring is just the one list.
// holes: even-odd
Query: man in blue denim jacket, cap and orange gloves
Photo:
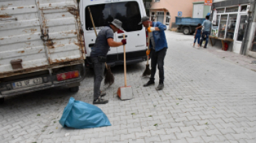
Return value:
[[(156, 65), (158, 65), (159, 70), (159, 85), (156, 87), (156, 90), (163, 89), (163, 81), (164, 77), (164, 59), (167, 51), (167, 41), (165, 38), (165, 30), (167, 29), (166, 25), (163, 25), (161, 22), (149, 21), (149, 17), (142, 17), (141, 22), (138, 23), (143, 24), (145, 28), (147, 28), (147, 32), (149, 33), (150, 42), (149, 42), (149, 51), (147, 51), (147, 55), (150, 53), (151, 58), (151, 76), (149, 81), (143, 85), (144, 87), (148, 87), (149, 85), (154, 85), (155, 83), (155, 74), (156, 74)], [(150, 24), (150, 26), (149, 26)]]

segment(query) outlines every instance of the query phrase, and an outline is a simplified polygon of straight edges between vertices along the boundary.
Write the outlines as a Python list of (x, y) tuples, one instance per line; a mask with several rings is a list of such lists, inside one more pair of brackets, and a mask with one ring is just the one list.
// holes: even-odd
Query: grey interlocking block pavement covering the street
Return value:
[[(109, 104), (98, 105), (112, 126), (64, 129), (58, 123), (72, 96), (92, 103), (93, 72), (80, 91), (59, 87), (6, 98), (0, 106), (0, 142), (256, 142), (256, 73), (191, 46), (193, 36), (167, 31), (165, 89), (143, 87), (145, 63), (127, 67), (134, 99), (119, 100), (123, 67)], [(158, 74), (156, 74), (158, 75)], [(156, 78), (158, 81), (158, 76)], [(156, 82), (155, 87), (158, 82)]]

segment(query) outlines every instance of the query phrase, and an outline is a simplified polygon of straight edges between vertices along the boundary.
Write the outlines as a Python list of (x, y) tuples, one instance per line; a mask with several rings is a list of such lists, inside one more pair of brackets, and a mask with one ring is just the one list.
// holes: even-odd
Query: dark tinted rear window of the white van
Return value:
[[(126, 32), (142, 30), (140, 9), (136, 1), (89, 5), (97, 30), (107, 26), (113, 19), (122, 21)], [(85, 8), (86, 30), (93, 30), (88, 6)]]

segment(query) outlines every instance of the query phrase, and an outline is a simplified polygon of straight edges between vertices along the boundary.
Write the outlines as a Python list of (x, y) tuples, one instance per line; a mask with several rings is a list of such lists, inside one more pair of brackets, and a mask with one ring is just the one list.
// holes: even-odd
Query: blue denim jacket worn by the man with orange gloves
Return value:
[[(155, 50), (156, 52), (162, 50), (164, 47), (167, 46), (167, 40), (165, 38), (165, 30), (167, 29), (166, 25), (163, 25), (161, 22), (153, 22), (152, 23), (154, 28), (159, 28), (160, 31), (154, 31), (152, 32), (154, 36), (154, 41), (155, 41)], [(149, 34), (148, 34), (149, 35)], [(152, 49), (152, 44), (149, 42), (149, 49)]]

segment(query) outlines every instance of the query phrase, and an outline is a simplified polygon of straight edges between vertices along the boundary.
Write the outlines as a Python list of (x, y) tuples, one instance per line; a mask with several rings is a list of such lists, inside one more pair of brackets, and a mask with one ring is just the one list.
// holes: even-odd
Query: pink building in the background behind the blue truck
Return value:
[[(193, 3), (202, 0), (152, 0), (150, 18), (172, 28), (175, 17), (193, 17)], [(203, 2), (202, 2), (203, 3)]]

